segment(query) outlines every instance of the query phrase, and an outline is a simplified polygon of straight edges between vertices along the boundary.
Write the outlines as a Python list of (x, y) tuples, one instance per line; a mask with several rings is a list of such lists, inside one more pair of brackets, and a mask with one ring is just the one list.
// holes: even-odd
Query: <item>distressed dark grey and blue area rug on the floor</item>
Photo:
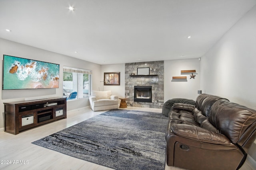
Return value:
[(167, 119), (114, 109), (32, 143), (117, 170), (164, 170)]

